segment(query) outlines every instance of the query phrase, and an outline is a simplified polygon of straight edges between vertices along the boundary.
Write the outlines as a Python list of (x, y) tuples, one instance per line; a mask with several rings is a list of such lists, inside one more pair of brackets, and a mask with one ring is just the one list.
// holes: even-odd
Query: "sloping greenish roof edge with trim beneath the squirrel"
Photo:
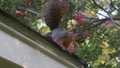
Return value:
[[(25, 42), (32, 48), (36, 48), (56, 61), (74, 68), (87, 67), (86, 62), (75, 54), (69, 54), (62, 50), (56, 43), (46, 39), (38, 32), (24, 25), (11, 15), (0, 10), (0, 29), (6, 31), (13, 37)], [(41, 45), (39, 45), (41, 44)]]

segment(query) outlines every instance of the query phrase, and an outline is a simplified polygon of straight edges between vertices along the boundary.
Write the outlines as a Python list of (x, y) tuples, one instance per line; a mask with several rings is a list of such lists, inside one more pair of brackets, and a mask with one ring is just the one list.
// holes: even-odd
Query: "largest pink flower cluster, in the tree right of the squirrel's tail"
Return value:
[(79, 25), (85, 25), (85, 21), (83, 20), (84, 14), (83, 12), (78, 12), (74, 15), (74, 19), (78, 21)]

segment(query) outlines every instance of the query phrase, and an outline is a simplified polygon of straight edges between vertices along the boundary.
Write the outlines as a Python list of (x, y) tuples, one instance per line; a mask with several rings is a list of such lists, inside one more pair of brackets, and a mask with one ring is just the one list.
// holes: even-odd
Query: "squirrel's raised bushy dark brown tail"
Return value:
[(63, 14), (68, 9), (69, 0), (51, 0), (44, 13), (46, 25), (51, 29), (59, 27)]

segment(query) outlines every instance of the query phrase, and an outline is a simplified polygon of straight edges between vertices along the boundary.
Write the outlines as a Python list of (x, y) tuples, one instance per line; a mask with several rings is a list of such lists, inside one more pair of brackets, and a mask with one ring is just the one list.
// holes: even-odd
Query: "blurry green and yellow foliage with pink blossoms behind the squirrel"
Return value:
[[(42, 21), (47, 0), (0, 0), (0, 9), (41, 34), (49, 32)], [(90, 68), (119, 68), (116, 57), (120, 48), (119, 0), (71, 0), (61, 28), (75, 29), (85, 35), (76, 44), (76, 52)]]

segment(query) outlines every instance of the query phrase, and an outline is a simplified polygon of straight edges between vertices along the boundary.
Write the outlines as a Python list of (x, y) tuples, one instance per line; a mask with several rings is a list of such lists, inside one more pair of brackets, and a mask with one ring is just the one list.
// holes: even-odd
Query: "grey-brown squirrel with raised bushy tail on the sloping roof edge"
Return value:
[(83, 42), (84, 38), (76, 31), (69, 31), (59, 28), (62, 16), (68, 10), (69, 0), (50, 0), (44, 12), (44, 21), (51, 32), (45, 37), (60, 45), (63, 50), (69, 53), (74, 52), (73, 42)]

